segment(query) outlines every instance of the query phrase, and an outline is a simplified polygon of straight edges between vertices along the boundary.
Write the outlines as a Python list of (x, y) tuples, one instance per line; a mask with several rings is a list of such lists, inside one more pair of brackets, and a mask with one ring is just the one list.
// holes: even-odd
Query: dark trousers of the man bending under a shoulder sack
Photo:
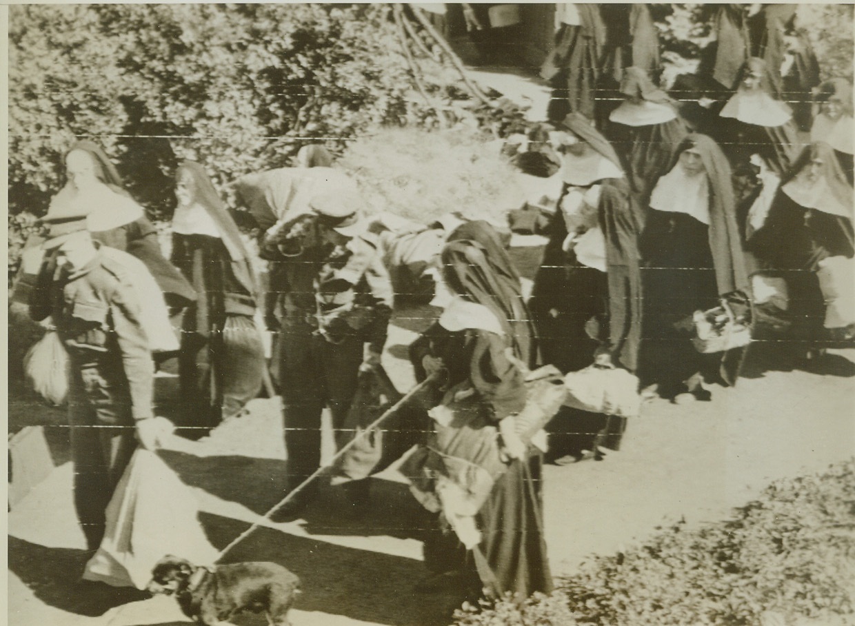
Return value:
[(280, 393), (285, 416), (289, 488), (321, 464), (321, 410), (328, 406), (333, 428), (341, 428), (357, 393), (363, 340), (331, 344), (302, 320), (282, 324)]

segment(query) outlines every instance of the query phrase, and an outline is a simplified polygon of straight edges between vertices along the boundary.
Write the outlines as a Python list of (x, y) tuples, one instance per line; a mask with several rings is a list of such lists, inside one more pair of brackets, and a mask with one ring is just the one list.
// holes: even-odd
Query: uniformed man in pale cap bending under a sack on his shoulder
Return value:
[[(359, 372), (380, 364), (392, 315), (392, 283), (378, 241), (360, 216), (356, 190), (321, 193), (310, 208), (262, 244), (272, 262), (268, 326), (278, 323), (274, 309), (281, 316), (280, 393), (291, 488), (320, 466), (323, 407), (332, 413), (333, 428), (341, 428)], [(311, 485), (277, 517), (292, 517), (316, 493)]]

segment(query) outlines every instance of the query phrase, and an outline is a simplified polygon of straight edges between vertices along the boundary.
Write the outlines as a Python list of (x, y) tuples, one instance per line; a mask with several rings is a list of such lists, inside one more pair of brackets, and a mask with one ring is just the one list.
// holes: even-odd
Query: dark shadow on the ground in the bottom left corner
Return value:
[(150, 597), (138, 589), (81, 581), (87, 558), (83, 550), (39, 546), (9, 536), (9, 570), (46, 605), (97, 617), (114, 606)]

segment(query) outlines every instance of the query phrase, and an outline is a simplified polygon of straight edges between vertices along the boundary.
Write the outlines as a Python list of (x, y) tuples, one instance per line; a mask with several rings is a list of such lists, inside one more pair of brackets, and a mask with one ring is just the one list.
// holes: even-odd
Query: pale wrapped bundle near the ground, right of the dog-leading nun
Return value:
[(564, 376), (564, 406), (621, 417), (639, 414), (639, 379), (626, 369), (590, 365)]

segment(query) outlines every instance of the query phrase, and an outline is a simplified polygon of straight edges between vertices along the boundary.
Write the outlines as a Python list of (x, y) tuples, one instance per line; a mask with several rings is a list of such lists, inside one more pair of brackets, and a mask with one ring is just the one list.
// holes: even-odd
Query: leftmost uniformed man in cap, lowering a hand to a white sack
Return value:
[(48, 213), (45, 260), (30, 316), (51, 316), (68, 351), (68, 420), (74, 505), (90, 550), (103, 539), (104, 511), (137, 441), (157, 446), (153, 365), (127, 270), (104, 255), (86, 230), (85, 212)]

